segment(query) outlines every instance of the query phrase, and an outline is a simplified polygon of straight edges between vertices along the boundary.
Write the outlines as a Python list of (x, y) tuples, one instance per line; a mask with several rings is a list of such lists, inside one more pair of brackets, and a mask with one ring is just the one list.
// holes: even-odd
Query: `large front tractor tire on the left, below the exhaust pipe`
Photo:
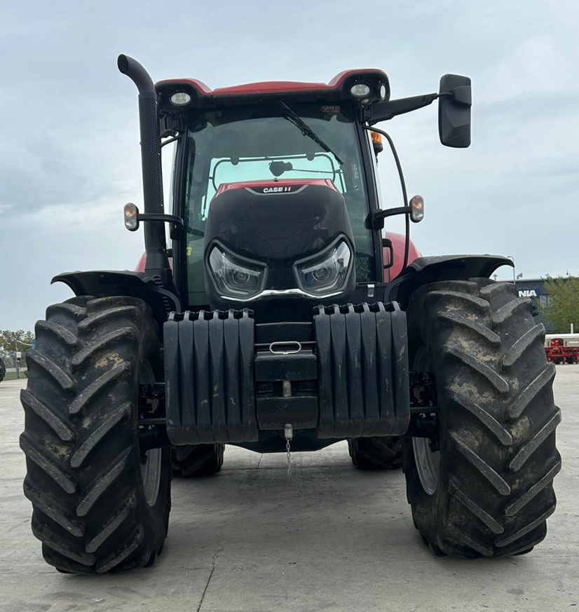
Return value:
[(48, 564), (64, 573), (150, 565), (167, 536), (170, 449), (139, 449), (139, 416), (162, 380), (156, 322), (142, 300), (76, 297), (49, 306), (27, 352), (24, 491)]

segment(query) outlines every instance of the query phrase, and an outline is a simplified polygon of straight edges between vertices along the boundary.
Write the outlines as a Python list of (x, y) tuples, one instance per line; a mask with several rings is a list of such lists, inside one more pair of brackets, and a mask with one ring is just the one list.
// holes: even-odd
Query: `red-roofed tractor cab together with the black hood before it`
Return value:
[[(360, 111), (388, 97), (386, 74), (349, 71), (327, 85), (209, 90), (184, 80), (156, 88), (165, 133), (181, 135), (172, 197), (184, 234), (174, 257), (185, 261), (189, 306), (251, 302), (259, 318), (271, 318), (261, 305), (277, 297), (307, 316), (320, 301), (350, 301), (356, 285), (382, 282), (381, 243), (368, 223), (374, 151)], [(207, 234), (217, 225), (219, 239)], [(300, 269), (310, 264), (306, 279)]]

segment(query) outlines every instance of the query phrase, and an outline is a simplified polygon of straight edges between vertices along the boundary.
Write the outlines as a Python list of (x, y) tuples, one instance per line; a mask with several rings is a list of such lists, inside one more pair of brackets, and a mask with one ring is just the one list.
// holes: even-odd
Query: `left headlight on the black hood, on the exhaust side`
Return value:
[(266, 267), (213, 247), (209, 265), (219, 290), (231, 297), (252, 297), (263, 288)]

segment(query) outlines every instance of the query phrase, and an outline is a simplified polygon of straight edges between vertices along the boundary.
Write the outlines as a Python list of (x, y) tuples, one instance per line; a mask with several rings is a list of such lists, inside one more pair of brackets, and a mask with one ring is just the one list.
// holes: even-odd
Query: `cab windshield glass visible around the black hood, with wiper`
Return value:
[(372, 280), (372, 236), (365, 227), (369, 205), (353, 111), (313, 103), (291, 104), (290, 108), (315, 137), (291, 121), (280, 104), (212, 110), (191, 121), (184, 211), (189, 304), (207, 304), (203, 236), (211, 200), (224, 183), (275, 177), (332, 179), (348, 208), (357, 280)]

